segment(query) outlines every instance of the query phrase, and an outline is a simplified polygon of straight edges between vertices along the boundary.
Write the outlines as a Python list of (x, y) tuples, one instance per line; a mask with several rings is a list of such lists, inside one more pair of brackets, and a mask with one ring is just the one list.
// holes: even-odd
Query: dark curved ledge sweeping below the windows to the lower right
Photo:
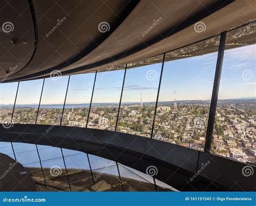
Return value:
[[(102, 156), (143, 173), (154, 166), (158, 171), (154, 177), (178, 190), (232, 187), (232, 190), (249, 191), (254, 188), (255, 174), (245, 176), (242, 172), (248, 167), (255, 169), (252, 166), (141, 136), (100, 129), (24, 124), (8, 129), (0, 126), (0, 135), (2, 141), (62, 147)], [(239, 184), (234, 185), (234, 180), (239, 180)], [(215, 189), (210, 187), (211, 182)]]

